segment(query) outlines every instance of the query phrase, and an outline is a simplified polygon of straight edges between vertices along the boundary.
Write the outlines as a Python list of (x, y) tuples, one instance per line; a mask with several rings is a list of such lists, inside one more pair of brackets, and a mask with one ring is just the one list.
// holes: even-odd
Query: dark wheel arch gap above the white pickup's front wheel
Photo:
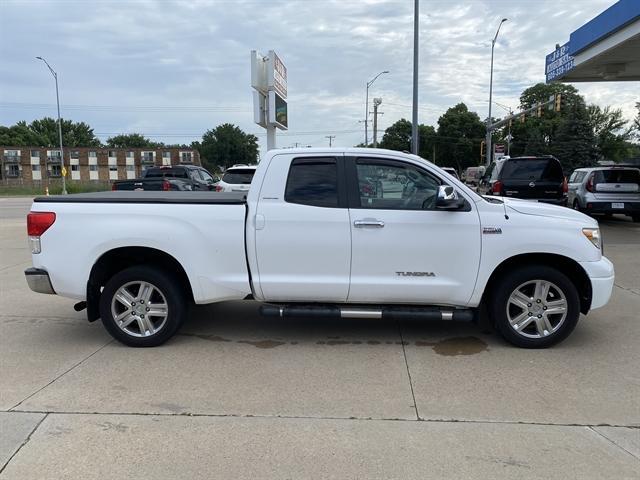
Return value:
[(486, 300), (492, 294), (492, 290), (496, 287), (498, 280), (506, 272), (514, 268), (536, 265), (551, 267), (566, 275), (578, 291), (580, 311), (584, 314), (589, 312), (591, 309), (592, 290), (587, 272), (572, 258), (554, 253), (524, 253), (505, 259), (491, 273), (484, 289), (481, 303), (486, 304)]

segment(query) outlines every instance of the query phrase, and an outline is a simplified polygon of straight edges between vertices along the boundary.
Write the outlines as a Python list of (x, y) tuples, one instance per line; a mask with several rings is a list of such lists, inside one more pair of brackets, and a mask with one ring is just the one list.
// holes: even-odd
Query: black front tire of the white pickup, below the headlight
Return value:
[[(545, 301), (536, 303), (537, 301), (532, 300), (532, 303), (527, 304), (527, 306), (530, 307), (527, 308), (527, 310), (530, 309), (532, 311), (526, 312), (525, 315), (524, 310), (518, 310), (521, 307), (509, 302), (509, 298), (516, 289), (523, 285), (525, 291), (528, 288), (535, 288), (534, 285), (529, 285), (529, 282), (538, 280), (551, 282), (552, 286), (549, 289)], [(546, 348), (555, 345), (569, 336), (580, 318), (580, 299), (575, 285), (564, 274), (552, 267), (531, 265), (518, 268), (500, 279), (492, 291), (493, 294), (488, 304), (489, 312), (495, 321), (496, 328), (505, 340), (518, 347)], [(547, 317), (545, 311), (541, 309), (544, 308), (544, 310), (547, 310), (545, 306), (546, 302), (554, 301), (553, 298), (557, 299), (555, 301), (562, 300), (562, 295), (564, 295), (566, 303), (566, 316), (564, 319), (561, 318), (561, 314), (553, 314)], [(512, 313), (514, 310), (515, 313)], [(529, 322), (528, 326), (523, 328), (521, 333), (517, 332), (509, 321), (509, 315), (517, 318), (518, 314), (525, 315), (526, 317), (519, 322), (521, 325), (527, 325), (526, 321)], [(544, 336), (532, 338), (531, 336), (540, 335), (537, 322), (531, 320), (533, 317), (538, 318), (538, 315), (544, 315), (544, 318), (549, 318), (549, 324), (553, 327), (551, 329), (552, 332)]]

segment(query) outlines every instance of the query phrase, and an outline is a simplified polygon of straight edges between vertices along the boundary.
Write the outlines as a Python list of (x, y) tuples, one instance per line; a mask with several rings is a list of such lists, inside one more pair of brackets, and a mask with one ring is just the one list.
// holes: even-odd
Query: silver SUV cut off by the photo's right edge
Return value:
[(569, 178), (569, 204), (585, 213), (622, 213), (640, 222), (640, 169), (578, 168)]

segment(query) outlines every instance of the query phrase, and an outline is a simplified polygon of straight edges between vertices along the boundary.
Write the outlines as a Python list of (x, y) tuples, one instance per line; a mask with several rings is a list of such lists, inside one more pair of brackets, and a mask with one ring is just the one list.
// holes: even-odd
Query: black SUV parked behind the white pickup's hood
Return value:
[(492, 163), (478, 185), (478, 193), (567, 205), (567, 181), (560, 162), (551, 155)]

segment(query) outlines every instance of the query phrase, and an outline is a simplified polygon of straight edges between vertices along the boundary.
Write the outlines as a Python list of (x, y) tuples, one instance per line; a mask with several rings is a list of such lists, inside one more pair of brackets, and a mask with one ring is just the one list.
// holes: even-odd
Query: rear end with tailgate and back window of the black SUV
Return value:
[(564, 194), (562, 167), (555, 159), (507, 160), (500, 172), (500, 179), (507, 197), (559, 200)]

